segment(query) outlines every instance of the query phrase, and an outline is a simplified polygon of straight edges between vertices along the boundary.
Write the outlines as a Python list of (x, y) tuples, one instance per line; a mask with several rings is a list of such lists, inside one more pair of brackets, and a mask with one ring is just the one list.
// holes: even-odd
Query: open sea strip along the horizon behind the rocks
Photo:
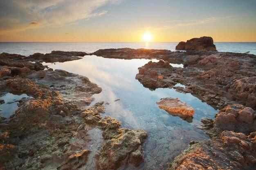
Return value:
[[(30, 55), (52, 50), (94, 52), (105, 48), (149, 48), (175, 50), (177, 42), (0, 42), (0, 53)], [(256, 54), (256, 42), (215, 42), (221, 52), (248, 52)]]

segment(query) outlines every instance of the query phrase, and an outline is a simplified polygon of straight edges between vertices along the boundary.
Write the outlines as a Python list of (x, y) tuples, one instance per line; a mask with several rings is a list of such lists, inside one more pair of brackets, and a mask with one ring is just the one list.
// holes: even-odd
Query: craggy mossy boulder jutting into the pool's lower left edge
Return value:
[[(110, 117), (104, 117), (99, 125), (105, 129), (105, 139), (100, 152), (96, 155), (96, 164), (99, 170), (117, 169), (130, 162), (134, 166), (144, 160), (141, 145), (147, 133), (141, 129), (119, 129), (120, 123)], [(135, 158), (138, 158), (135, 160)]]

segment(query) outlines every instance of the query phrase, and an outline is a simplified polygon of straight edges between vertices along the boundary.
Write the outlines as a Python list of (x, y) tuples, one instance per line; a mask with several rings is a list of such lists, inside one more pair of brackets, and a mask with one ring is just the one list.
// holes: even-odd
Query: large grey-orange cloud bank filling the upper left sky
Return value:
[(0, 34), (65, 26), (106, 14), (100, 9), (122, 0), (0, 0)]

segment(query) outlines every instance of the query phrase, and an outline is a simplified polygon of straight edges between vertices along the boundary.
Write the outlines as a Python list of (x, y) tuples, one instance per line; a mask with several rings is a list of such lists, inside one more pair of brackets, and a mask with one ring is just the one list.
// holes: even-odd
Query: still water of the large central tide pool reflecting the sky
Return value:
[[(135, 80), (138, 67), (145, 65), (146, 59), (106, 59), (86, 56), (81, 60), (49, 64), (50, 68), (87, 76), (90, 81), (102, 87), (100, 94), (95, 94), (95, 101), (109, 102), (106, 113), (122, 122), (122, 126), (132, 129), (144, 129), (148, 133), (145, 144), (145, 162), (139, 169), (162, 169), (184, 150), (191, 140), (208, 138), (195, 126), (204, 117), (213, 118), (216, 110), (201, 102), (191, 94), (176, 92), (175, 89), (159, 88), (155, 91), (143, 87)], [(180, 85), (182, 86), (182, 85)], [(159, 109), (156, 101), (161, 98), (179, 98), (195, 109), (193, 122), (171, 116)], [(116, 102), (114, 100), (120, 99)], [(122, 167), (132, 168), (130, 165)], [(122, 169), (121, 168), (121, 169)]]

